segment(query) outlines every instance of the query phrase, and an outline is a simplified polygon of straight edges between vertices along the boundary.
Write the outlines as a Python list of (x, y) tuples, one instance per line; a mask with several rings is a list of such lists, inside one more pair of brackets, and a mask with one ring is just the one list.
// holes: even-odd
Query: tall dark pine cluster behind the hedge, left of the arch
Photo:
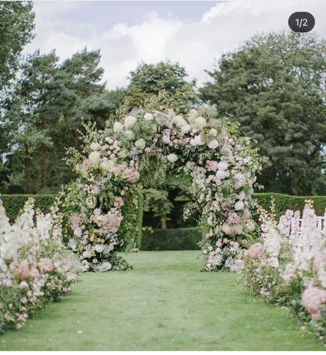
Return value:
[(105, 94), (99, 61), (99, 51), (86, 49), (62, 64), (54, 51), (36, 51), (25, 61), (2, 119), (10, 136), (8, 189), (14, 183), (24, 192), (57, 192), (72, 178), (63, 161), (66, 149), (80, 148), (78, 130), (85, 121), (107, 119), (90, 100)]

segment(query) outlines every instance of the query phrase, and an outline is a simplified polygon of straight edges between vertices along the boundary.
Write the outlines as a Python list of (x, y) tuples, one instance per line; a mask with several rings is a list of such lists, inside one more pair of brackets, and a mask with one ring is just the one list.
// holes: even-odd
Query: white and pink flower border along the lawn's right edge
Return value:
[[(261, 241), (243, 255), (241, 276), (246, 287), (270, 301), (290, 307), (312, 321), (317, 335), (326, 329), (326, 226), (316, 223), (311, 201), (300, 212), (287, 210), (276, 222), (260, 210)], [(326, 212), (325, 212), (326, 216)]]

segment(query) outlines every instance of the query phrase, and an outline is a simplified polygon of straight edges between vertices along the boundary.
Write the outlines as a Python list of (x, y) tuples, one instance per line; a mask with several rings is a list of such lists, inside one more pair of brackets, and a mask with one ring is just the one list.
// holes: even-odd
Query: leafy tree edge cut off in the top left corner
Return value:
[(19, 68), (23, 47), (34, 37), (32, 1), (0, 2), (0, 88), (8, 85)]

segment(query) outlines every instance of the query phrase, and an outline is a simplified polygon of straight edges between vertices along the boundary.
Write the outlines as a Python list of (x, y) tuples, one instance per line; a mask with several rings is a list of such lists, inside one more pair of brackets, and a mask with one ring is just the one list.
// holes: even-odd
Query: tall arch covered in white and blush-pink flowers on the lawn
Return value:
[(137, 239), (141, 187), (171, 170), (191, 176), (205, 270), (235, 269), (241, 240), (254, 229), (261, 161), (237, 123), (217, 117), (213, 108), (133, 109), (105, 130), (87, 129), (83, 153), (69, 159), (78, 178), (63, 195), (67, 243), (85, 270), (128, 267), (116, 252)]

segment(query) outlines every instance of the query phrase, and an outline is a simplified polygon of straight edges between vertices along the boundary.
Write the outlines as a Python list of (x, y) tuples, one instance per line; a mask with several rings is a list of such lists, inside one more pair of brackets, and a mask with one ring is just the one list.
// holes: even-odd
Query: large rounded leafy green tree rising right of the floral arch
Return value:
[(256, 35), (222, 55), (200, 90), (268, 156), (266, 191), (325, 194), (325, 43), (307, 33)]

